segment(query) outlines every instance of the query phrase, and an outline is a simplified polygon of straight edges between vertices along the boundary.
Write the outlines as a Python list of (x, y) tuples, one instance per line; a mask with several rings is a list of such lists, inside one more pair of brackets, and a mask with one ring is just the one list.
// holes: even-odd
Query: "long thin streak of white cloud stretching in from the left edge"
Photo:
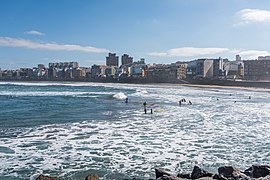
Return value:
[(80, 51), (80, 52), (89, 52), (89, 53), (109, 52), (109, 50), (107, 49), (95, 48), (91, 46), (35, 42), (31, 40), (26, 40), (26, 39), (18, 39), (18, 38), (10, 38), (10, 37), (0, 37), (0, 46), (20, 47), (20, 48), (27, 48), (27, 49), (40, 49), (40, 50), (50, 50), (50, 51)]

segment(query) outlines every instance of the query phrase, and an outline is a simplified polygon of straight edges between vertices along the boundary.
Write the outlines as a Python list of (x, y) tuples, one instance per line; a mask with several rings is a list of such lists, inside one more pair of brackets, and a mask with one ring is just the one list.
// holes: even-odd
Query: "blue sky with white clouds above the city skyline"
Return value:
[(0, 68), (270, 55), (269, 0), (1, 0)]

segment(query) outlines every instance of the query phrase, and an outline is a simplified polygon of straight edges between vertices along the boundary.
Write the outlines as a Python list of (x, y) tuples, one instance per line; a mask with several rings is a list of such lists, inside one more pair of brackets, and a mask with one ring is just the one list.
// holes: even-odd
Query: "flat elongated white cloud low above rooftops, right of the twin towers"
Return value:
[(195, 48), (195, 47), (182, 47), (169, 49), (166, 52), (151, 52), (151, 56), (159, 57), (192, 57), (192, 56), (204, 56), (211, 54), (218, 54), (229, 51), (228, 48)]

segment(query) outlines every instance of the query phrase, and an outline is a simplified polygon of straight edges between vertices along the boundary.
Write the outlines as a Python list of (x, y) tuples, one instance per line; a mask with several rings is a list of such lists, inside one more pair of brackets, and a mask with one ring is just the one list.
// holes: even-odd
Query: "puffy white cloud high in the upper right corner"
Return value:
[(270, 22), (270, 11), (260, 9), (243, 9), (236, 13), (240, 18), (241, 24), (248, 24), (252, 22), (265, 23)]

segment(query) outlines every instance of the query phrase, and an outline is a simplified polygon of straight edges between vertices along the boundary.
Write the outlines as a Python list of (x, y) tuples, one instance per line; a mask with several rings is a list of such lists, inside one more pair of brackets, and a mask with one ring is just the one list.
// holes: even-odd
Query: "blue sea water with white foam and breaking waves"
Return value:
[(0, 179), (269, 164), (269, 109), (267, 89), (0, 82)]

